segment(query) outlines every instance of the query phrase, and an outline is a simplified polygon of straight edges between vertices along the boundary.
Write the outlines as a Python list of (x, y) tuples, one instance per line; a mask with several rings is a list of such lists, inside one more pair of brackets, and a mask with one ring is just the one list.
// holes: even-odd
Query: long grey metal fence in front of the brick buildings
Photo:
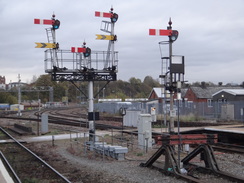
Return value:
[[(97, 103), (95, 110), (110, 114), (119, 113), (121, 107), (127, 110), (139, 110), (141, 113), (151, 113), (151, 108), (156, 108), (157, 115), (169, 114), (170, 105), (162, 103), (133, 102), (130, 104), (121, 103)], [(173, 109), (180, 116), (194, 115), (197, 118), (209, 120), (233, 120), (244, 122), (244, 101), (228, 102), (191, 102), (174, 101)]]

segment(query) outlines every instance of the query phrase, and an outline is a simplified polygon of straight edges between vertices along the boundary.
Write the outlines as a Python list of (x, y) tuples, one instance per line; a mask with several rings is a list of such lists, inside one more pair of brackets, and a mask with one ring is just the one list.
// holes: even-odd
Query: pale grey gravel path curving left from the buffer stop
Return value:
[(73, 156), (66, 150), (61, 149), (59, 151), (64, 155), (69, 161), (76, 162), (77, 166), (87, 166), (94, 171), (106, 172), (103, 177), (106, 182), (148, 182), (148, 183), (158, 183), (158, 182), (182, 182), (172, 177), (167, 177), (162, 173), (151, 170), (148, 168), (139, 167), (140, 162), (138, 161), (97, 161), (97, 160), (87, 160), (85, 158)]

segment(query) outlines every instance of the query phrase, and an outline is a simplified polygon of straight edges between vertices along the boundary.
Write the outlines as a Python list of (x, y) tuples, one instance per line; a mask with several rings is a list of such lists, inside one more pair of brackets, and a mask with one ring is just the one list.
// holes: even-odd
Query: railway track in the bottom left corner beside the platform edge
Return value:
[(0, 139), (11, 140), (11, 142), (0, 143), (2, 159), (10, 169), (10, 176), (14, 182), (60, 182), (70, 181), (47, 164), (43, 159), (25, 147), (22, 143), (12, 137), (7, 131), (0, 127)]

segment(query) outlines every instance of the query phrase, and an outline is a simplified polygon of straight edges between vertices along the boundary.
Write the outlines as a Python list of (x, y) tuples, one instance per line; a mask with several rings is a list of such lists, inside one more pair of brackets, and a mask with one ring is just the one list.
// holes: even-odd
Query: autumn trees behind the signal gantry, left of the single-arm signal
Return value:
[[(34, 78), (34, 77), (33, 77)], [(35, 78), (33, 79), (33, 81)], [(88, 96), (88, 82), (75, 82), (75, 85), (81, 89), (83, 93)], [(101, 90), (102, 87), (104, 90)], [(63, 96), (67, 96), (70, 102), (77, 102), (77, 96), (84, 98), (85, 96), (78, 91), (78, 89), (71, 84), (69, 81), (59, 82), (52, 81), (50, 75), (39, 76), (34, 83), (29, 85), (30, 87), (53, 87), (54, 101), (62, 101)], [(97, 95), (97, 98), (147, 98), (153, 87), (159, 87), (160, 84), (157, 80), (153, 79), (151, 76), (146, 76), (143, 80), (131, 77), (129, 81), (117, 80), (110, 82), (107, 85), (106, 81), (94, 82), (94, 95), (97, 94), (99, 90), (101, 93)], [(26, 92), (28, 98), (36, 98), (33, 94), (32, 96)], [(42, 102), (49, 101), (49, 92), (40, 92), (39, 98)]]

